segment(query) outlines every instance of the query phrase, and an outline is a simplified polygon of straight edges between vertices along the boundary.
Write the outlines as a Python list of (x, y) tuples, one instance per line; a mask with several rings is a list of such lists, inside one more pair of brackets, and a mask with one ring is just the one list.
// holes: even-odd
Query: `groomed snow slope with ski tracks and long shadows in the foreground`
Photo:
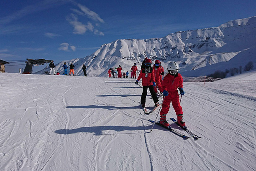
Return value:
[(149, 133), (158, 110), (143, 114), (131, 79), (0, 73), (0, 85), (1, 171), (256, 170), (255, 98), (184, 83), (194, 140)]

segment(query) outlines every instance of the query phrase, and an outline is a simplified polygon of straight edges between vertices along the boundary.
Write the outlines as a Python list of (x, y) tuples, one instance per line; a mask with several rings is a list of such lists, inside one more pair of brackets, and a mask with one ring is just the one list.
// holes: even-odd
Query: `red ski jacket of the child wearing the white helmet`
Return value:
[(162, 90), (167, 90), (168, 92), (175, 92), (177, 91), (177, 88), (183, 88), (182, 76), (179, 73), (175, 76), (169, 73), (165, 75), (162, 83)]

